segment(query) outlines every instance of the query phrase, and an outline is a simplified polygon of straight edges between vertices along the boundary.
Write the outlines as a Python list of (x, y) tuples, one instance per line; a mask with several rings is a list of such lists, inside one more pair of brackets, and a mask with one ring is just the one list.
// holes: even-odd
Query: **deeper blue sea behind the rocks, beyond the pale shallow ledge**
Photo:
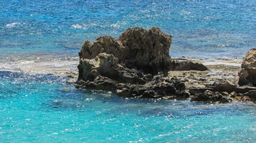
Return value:
[(2, 0), (1, 56), (77, 56), (86, 39), (158, 26), (173, 35), (172, 56), (242, 58), (256, 43), (255, 11), (254, 0)]

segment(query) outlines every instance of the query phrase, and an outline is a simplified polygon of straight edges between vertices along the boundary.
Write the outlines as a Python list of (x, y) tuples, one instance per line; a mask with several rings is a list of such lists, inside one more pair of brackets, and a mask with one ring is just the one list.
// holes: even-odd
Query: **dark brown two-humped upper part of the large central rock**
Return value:
[(105, 52), (113, 54), (126, 67), (137, 68), (145, 73), (166, 73), (172, 68), (169, 55), (171, 42), (172, 36), (164, 34), (157, 27), (150, 30), (127, 28), (118, 39), (103, 36), (93, 44), (84, 42), (79, 56), (80, 59), (94, 59), (99, 53)]

